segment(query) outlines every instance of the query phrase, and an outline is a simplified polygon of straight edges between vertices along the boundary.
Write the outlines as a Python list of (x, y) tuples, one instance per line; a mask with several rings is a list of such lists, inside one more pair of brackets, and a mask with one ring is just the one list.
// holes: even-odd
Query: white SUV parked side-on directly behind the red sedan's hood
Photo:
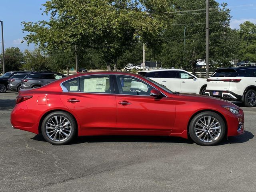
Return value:
[(182, 69), (148, 70), (140, 71), (138, 74), (148, 77), (174, 92), (204, 94), (206, 89), (206, 79), (197, 78)]

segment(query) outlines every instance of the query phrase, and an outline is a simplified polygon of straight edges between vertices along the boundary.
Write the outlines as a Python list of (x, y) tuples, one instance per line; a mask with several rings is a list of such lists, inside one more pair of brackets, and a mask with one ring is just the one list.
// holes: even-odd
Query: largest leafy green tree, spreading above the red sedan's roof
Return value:
[(162, 22), (139, 5), (132, 0), (47, 1), (44, 13), (50, 20), (23, 22), (23, 30), (29, 32), (24, 38), (47, 51), (76, 47), (81, 54), (94, 48), (108, 70), (116, 69), (118, 58), (139, 39), (152, 44), (160, 34)]

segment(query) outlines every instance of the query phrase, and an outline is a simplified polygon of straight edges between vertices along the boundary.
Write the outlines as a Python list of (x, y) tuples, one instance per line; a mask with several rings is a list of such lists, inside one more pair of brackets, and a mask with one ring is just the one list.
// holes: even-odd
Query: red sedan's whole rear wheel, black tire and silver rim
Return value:
[[(66, 124), (68, 122), (66, 126), (68, 126), (70, 128), (67, 128), (65, 126), (62, 127), (62, 126), (58, 125), (58, 127), (50, 126), (50, 129), (49, 129), (50, 124), (55, 125), (58, 123), (58, 122), (56, 123), (56, 121), (55, 121), (56, 116), (57, 116), (57, 120), (59, 120), (60, 124), (61, 124), (61, 121), (63, 120), (62, 124)], [(60, 117), (62, 117), (62, 118), (60, 118)], [(64, 121), (64, 118), (66, 118), (67, 121)], [(53, 121), (51, 119), (53, 119)], [(50, 122), (50, 124), (49, 124), (49, 122)], [(54, 124), (54, 122), (55, 122), (55, 124)], [(46, 125), (48, 125), (47, 126), (48, 128), (46, 128)], [(48, 134), (46, 133), (46, 129), (49, 130), (47, 132)], [(52, 112), (52, 113), (48, 114), (44, 118), (44, 120), (42, 122), (42, 126), (41, 126), (41, 131), (42, 131), (42, 135), (43, 135), (44, 139), (53, 145), (65, 145), (65, 144), (69, 143), (76, 136), (76, 130), (77, 130), (76, 122), (75, 122), (73, 116), (67, 112), (62, 112), (62, 111), (56, 111), (56, 112)], [(66, 136), (65, 133), (68, 136)], [(52, 134), (52, 136), (50, 134)], [(56, 137), (54, 140), (55, 135), (56, 135)], [(64, 137), (66, 137), (66, 138), (64, 139)]]

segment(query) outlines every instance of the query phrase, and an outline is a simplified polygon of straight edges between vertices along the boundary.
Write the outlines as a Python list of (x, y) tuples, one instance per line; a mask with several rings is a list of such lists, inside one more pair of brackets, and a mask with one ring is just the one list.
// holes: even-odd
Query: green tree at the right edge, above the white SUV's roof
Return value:
[(256, 62), (256, 24), (246, 21), (240, 24), (239, 60)]

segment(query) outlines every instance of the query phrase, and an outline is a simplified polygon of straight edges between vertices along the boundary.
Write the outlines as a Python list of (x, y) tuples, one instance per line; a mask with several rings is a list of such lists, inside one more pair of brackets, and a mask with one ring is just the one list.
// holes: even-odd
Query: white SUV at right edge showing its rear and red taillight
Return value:
[(220, 68), (207, 79), (206, 95), (256, 106), (256, 67)]

